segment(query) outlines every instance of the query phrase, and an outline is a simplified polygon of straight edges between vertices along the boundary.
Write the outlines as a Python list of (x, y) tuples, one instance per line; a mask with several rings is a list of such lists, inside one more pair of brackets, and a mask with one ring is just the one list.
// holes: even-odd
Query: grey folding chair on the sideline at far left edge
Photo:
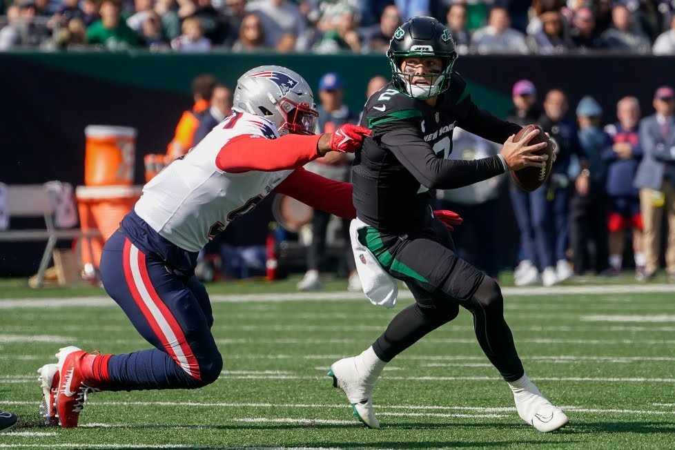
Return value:
[(37, 271), (36, 286), (44, 284), (45, 273), (58, 239), (99, 237), (98, 230), (81, 231), (79, 228), (59, 229), (54, 224), (54, 205), (42, 184), (8, 184), (6, 213), (9, 217), (43, 217), (45, 228), (0, 231), (0, 242), (47, 241)]

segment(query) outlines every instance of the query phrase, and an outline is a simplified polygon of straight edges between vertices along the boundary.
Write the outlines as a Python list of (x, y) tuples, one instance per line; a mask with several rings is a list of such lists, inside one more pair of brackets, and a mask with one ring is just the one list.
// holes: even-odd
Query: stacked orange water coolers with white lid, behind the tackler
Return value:
[(99, 268), (101, 251), (141, 196), (142, 186), (133, 186), (136, 130), (126, 126), (90, 125), (84, 130), (84, 184), (77, 186), (77, 210), (83, 231), (98, 230), (101, 237), (81, 245), (87, 277)]

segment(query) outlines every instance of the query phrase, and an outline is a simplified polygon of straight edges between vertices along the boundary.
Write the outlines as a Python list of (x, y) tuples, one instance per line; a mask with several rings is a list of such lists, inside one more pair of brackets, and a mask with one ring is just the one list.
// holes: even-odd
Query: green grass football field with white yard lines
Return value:
[(543, 434), (518, 418), (467, 311), (387, 366), (374, 397), (382, 429), (364, 428), (326, 372), (371, 344), (409, 294), (385, 310), (336, 291), (344, 280), (309, 295), (294, 281), (211, 284), (219, 380), (97, 393), (70, 430), (40, 424), (37, 368), (64, 345), (148, 345), (99, 288), (1, 282), (0, 410), (21, 421), (0, 449), (675, 449), (675, 286), (505, 288), (527, 373), (569, 415)]

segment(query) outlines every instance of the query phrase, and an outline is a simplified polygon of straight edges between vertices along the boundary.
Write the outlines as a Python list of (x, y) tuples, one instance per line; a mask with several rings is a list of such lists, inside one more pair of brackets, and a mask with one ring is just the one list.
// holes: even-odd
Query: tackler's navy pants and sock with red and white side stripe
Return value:
[(175, 275), (117, 231), (101, 255), (101, 278), (108, 295), (155, 346), (110, 358), (106, 390), (194, 389), (218, 378), (223, 361), (211, 334), (211, 303), (195, 276)]

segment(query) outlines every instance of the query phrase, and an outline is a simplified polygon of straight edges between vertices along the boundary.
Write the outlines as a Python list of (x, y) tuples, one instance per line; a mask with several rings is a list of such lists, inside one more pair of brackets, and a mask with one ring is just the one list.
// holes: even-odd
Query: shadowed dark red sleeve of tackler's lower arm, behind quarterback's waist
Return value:
[(326, 213), (353, 219), (356, 210), (351, 200), (352, 188), (349, 183), (335, 182), (301, 167), (293, 170), (273, 192), (288, 195)]

